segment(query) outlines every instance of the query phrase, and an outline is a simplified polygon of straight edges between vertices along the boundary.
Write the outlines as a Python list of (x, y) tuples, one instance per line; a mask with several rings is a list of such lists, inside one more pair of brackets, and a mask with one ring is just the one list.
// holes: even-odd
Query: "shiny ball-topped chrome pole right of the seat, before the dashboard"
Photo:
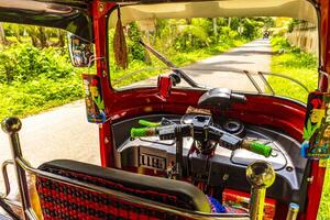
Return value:
[(250, 218), (262, 220), (264, 215), (266, 188), (272, 186), (276, 174), (270, 163), (256, 161), (246, 168), (246, 178), (251, 184)]

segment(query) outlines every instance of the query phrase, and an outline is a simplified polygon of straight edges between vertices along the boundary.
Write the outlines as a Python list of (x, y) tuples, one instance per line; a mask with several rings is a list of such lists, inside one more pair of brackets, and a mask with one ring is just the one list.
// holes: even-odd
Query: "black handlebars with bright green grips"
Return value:
[[(230, 150), (245, 148), (265, 157), (268, 157), (272, 154), (271, 146), (267, 146), (257, 141), (242, 140), (215, 127), (208, 127), (208, 129), (211, 130), (207, 134), (210, 140), (221, 143), (222, 146)], [(179, 134), (180, 136), (196, 138), (200, 135), (200, 131), (197, 132), (193, 124), (172, 124), (131, 129), (131, 138), (160, 136), (161, 140), (174, 140), (177, 134)]]

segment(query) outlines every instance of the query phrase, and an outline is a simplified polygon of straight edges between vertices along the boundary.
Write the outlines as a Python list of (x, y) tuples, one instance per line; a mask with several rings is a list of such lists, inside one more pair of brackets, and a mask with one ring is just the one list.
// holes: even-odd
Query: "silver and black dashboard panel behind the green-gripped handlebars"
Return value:
[[(173, 140), (160, 140), (156, 136), (130, 136), (130, 129), (141, 127), (139, 120), (145, 119), (160, 122), (162, 119), (173, 123), (187, 123), (195, 114), (151, 114), (132, 118), (112, 124), (112, 134), (116, 146), (117, 168), (168, 177), (170, 167), (176, 160), (176, 143)], [(224, 119), (213, 123), (216, 127), (244, 140), (258, 141), (273, 148), (270, 157), (257, 155), (244, 148), (229, 150), (218, 143), (212, 153), (200, 153), (198, 143), (193, 138), (183, 139), (183, 173), (185, 180), (194, 185), (202, 183), (208, 188), (220, 191), (232, 188), (249, 193), (251, 186), (246, 180), (246, 166), (257, 160), (272, 164), (276, 172), (275, 183), (267, 189), (267, 197), (283, 204), (298, 202), (302, 208), (306, 202), (307, 183), (302, 179), (308, 161), (300, 157), (300, 143), (282, 131), (270, 128), (243, 124), (233, 119)], [(304, 198), (302, 198), (304, 197)]]

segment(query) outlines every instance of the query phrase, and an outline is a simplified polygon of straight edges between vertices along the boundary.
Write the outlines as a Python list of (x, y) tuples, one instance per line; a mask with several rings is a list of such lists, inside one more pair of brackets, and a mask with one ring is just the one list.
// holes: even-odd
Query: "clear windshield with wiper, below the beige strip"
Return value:
[(109, 19), (114, 89), (155, 87), (160, 75), (169, 74), (182, 78), (177, 88), (224, 87), (304, 102), (317, 88), (318, 34), (310, 22), (256, 16), (124, 23), (118, 14)]

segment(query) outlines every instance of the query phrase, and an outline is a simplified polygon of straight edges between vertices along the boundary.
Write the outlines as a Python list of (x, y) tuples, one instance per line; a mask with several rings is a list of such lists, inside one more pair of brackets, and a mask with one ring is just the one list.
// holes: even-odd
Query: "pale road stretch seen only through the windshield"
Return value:
[(270, 72), (271, 55), (270, 41), (257, 40), (188, 66), (188, 69), (198, 69), (188, 73), (188, 75), (195, 81), (210, 88), (223, 87), (239, 91), (256, 91), (253, 84), (242, 72), (249, 70), (263, 89), (262, 79), (253, 73)]

